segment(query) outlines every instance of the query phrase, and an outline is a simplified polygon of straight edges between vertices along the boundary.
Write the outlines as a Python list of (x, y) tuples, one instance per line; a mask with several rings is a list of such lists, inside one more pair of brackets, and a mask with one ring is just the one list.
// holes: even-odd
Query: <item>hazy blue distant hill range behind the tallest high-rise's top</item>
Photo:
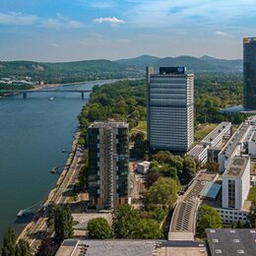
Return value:
[(210, 56), (196, 58), (193, 56), (179, 56), (158, 58), (150, 55), (142, 55), (137, 58), (120, 59), (117, 63), (145, 69), (146, 66), (186, 66), (188, 70), (195, 73), (202, 72), (237, 72), (242, 71), (242, 60), (224, 60)]

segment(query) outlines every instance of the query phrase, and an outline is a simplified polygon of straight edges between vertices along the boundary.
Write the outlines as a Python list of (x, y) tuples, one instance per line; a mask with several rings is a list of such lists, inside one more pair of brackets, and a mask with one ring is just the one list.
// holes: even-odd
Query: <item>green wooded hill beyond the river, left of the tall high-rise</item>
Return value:
[[(110, 60), (86, 60), (60, 63), (0, 61), (0, 78), (32, 77), (32, 81), (72, 83), (97, 79), (137, 77), (138, 69)], [(140, 75), (142, 76), (142, 75)]]

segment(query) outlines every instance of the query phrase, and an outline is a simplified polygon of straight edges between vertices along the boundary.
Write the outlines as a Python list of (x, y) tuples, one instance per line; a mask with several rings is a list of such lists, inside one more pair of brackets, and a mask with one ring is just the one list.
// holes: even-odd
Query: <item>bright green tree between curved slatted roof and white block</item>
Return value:
[(205, 228), (220, 228), (223, 226), (221, 216), (213, 207), (202, 205), (198, 213), (197, 233), (200, 237), (205, 237)]

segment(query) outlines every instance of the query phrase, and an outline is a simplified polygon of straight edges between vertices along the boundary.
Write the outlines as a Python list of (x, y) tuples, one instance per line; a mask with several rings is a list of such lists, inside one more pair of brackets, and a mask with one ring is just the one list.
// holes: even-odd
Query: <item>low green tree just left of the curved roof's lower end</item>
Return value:
[(160, 224), (150, 219), (140, 220), (133, 234), (136, 239), (159, 239), (161, 236)]

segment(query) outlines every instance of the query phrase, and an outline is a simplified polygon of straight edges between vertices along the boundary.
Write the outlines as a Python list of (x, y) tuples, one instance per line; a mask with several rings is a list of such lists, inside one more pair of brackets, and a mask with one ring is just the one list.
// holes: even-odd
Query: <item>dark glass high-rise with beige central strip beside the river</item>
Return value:
[(95, 122), (89, 127), (89, 196), (96, 209), (128, 201), (128, 124)]

